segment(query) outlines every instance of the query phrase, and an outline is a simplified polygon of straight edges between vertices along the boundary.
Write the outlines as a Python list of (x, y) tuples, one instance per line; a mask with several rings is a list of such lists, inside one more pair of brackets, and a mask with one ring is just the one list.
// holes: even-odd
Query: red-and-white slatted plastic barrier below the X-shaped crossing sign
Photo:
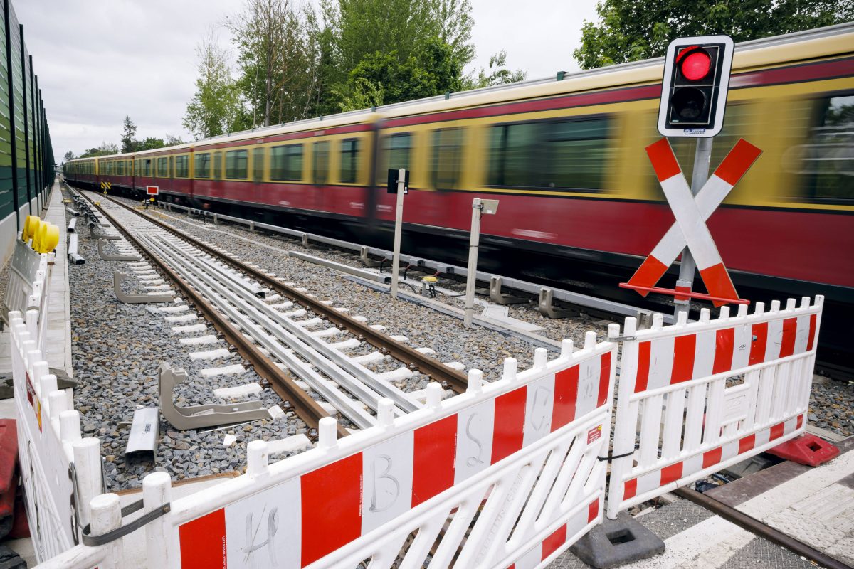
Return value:
[(667, 327), (656, 315), (636, 332), (626, 319), (609, 518), (804, 431), (822, 301)]

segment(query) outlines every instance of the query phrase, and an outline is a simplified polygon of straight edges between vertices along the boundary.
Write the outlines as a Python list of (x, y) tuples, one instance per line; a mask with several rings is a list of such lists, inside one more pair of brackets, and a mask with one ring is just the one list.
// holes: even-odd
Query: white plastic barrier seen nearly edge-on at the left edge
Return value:
[[(27, 311), (26, 316), (25, 323), (20, 312), (9, 312), (12, 374), (26, 514), (36, 557), (42, 561), (77, 543), (79, 526), (89, 523), (88, 504), (103, 491), (102, 467), (97, 438), (80, 437), (71, 390), (56, 388), (56, 376), (48, 373), (43, 352), (32, 340), (38, 337), (38, 311)], [(86, 507), (75, 512), (74, 503)]]

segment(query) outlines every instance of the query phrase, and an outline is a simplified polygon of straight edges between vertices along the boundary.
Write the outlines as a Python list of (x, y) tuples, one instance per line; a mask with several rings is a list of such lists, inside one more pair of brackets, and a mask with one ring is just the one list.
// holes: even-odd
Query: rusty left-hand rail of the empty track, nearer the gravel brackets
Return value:
[[(84, 199), (89, 200), (89, 198), (85, 196)], [(117, 202), (114, 201), (114, 203)], [(233, 345), (237, 349), (237, 352), (252, 365), (255, 373), (266, 380), (266, 383), (278, 394), (280, 398), (284, 401), (290, 402), (297, 415), (300, 415), (301, 419), (305, 421), (308, 426), (317, 429), (319, 427), (320, 419), (330, 416), (329, 413), (327, 413), (325, 409), (317, 403), (317, 401), (311, 398), (307, 392), (294, 383), (294, 379), (290, 374), (279, 369), (269, 357), (266, 357), (260, 349), (252, 343), (252, 341), (243, 336), (243, 333), (232, 326), (231, 322), (228, 322), (228, 319), (225, 316), (214, 309), (213, 305), (208, 303), (208, 301), (202, 297), (201, 293), (197, 293), (193, 287), (190, 287), (189, 282), (185, 282), (184, 279), (178, 276), (178, 274), (164, 261), (162, 261), (161, 258), (149, 251), (148, 247), (145, 247), (141, 241), (137, 240), (134, 235), (124, 229), (123, 224), (120, 224), (118, 219), (116, 219), (100, 204), (92, 202), (92, 205), (97, 207), (98, 211), (101, 212), (105, 218), (108, 218), (110, 223), (113, 224), (117, 230), (125, 235), (126, 239), (131, 242), (137, 251), (154, 263), (155, 266), (157, 266), (157, 268), (161, 270), (161, 272), (167, 276), (167, 278), (173, 282), (178, 289), (180, 289), (181, 293), (184, 294), (184, 296), (190, 300), (190, 303), (196, 307), (196, 310), (201, 312), (202, 316), (204, 316), (208, 322), (211, 322), (213, 328), (216, 328), (219, 333), (223, 335), (225, 341)], [(349, 434), (348, 430), (344, 428), (340, 422), (338, 422), (337, 425), (339, 437), (344, 437)]]

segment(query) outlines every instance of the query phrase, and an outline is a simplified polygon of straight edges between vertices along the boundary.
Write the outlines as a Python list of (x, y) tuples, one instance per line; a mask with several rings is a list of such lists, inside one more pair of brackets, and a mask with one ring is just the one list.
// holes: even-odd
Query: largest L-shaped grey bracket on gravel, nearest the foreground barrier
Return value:
[(173, 370), (168, 363), (163, 362), (158, 368), (158, 375), (161, 413), (173, 427), (180, 431), (270, 418), (270, 412), (260, 401), (178, 407), (174, 398), (175, 386), (187, 379), (187, 372), (184, 369)]

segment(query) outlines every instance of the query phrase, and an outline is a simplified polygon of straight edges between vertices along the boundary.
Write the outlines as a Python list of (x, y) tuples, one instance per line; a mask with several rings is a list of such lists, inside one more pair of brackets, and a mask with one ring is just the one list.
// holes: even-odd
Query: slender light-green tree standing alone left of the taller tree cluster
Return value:
[(239, 130), (235, 126), (242, 116), (240, 94), (231, 78), (228, 52), (219, 46), (213, 28), (196, 45), (196, 56), (196, 95), (187, 105), (182, 125), (196, 140)]

